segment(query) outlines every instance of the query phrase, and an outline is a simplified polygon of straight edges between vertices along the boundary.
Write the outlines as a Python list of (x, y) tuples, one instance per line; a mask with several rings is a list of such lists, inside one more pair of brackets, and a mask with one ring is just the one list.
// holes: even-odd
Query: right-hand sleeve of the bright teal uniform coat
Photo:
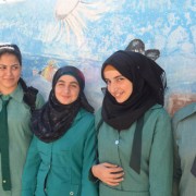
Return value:
[(91, 121), (87, 138), (84, 146), (84, 159), (83, 159), (83, 172), (82, 172), (82, 194), (81, 196), (91, 195), (98, 196), (97, 184), (93, 183), (88, 175), (91, 166), (96, 160), (96, 133), (95, 133), (95, 122)]

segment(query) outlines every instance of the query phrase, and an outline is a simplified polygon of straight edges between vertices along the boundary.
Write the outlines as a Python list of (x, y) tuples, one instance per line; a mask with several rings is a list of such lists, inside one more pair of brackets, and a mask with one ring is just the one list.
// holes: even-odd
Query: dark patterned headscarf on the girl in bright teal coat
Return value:
[[(78, 98), (70, 105), (62, 105), (54, 95), (56, 84), (62, 75), (74, 76), (79, 85)], [(40, 140), (50, 143), (63, 136), (81, 108), (94, 112), (84, 94), (84, 87), (85, 77), (77, 68), (63, 66), (56, 72), (48, 102), (32, 117), (33, 132)]]

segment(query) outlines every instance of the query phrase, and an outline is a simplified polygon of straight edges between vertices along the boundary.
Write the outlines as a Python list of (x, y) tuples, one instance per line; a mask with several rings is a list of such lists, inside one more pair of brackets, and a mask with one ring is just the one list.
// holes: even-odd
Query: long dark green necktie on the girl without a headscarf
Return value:
[(9, 132), (8, 132), (8, 112), (9, 100), (2, 100), (2, 110), (0, 112), (0, 151), (1, 151), (1, 175), (2, 187), (4, 191), (11, 191), (10, 158), (9, 158)]

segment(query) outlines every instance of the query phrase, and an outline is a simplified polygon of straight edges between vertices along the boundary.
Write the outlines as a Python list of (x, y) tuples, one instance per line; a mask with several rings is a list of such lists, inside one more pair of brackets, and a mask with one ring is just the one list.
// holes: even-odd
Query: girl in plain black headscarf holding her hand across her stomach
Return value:
[(100, 196), (170, 196), (172, 133), (166, 74), (147, 57), (117, 51), (101, 69), (107, 89), (96, 115)]

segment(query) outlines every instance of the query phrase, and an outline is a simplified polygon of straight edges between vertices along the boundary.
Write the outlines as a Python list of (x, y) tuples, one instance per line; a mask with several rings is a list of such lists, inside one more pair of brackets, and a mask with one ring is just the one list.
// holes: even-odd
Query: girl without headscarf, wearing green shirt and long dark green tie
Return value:
[[(33, 108), (44, 98), (37, 90), (28, 94), (21, 78), (22, 54), (16, 45), (0, 45), (0, 195), (21, 196), (21, 180), (32, 140)], [(30, 106), (29, 106), (30, 102)]]

